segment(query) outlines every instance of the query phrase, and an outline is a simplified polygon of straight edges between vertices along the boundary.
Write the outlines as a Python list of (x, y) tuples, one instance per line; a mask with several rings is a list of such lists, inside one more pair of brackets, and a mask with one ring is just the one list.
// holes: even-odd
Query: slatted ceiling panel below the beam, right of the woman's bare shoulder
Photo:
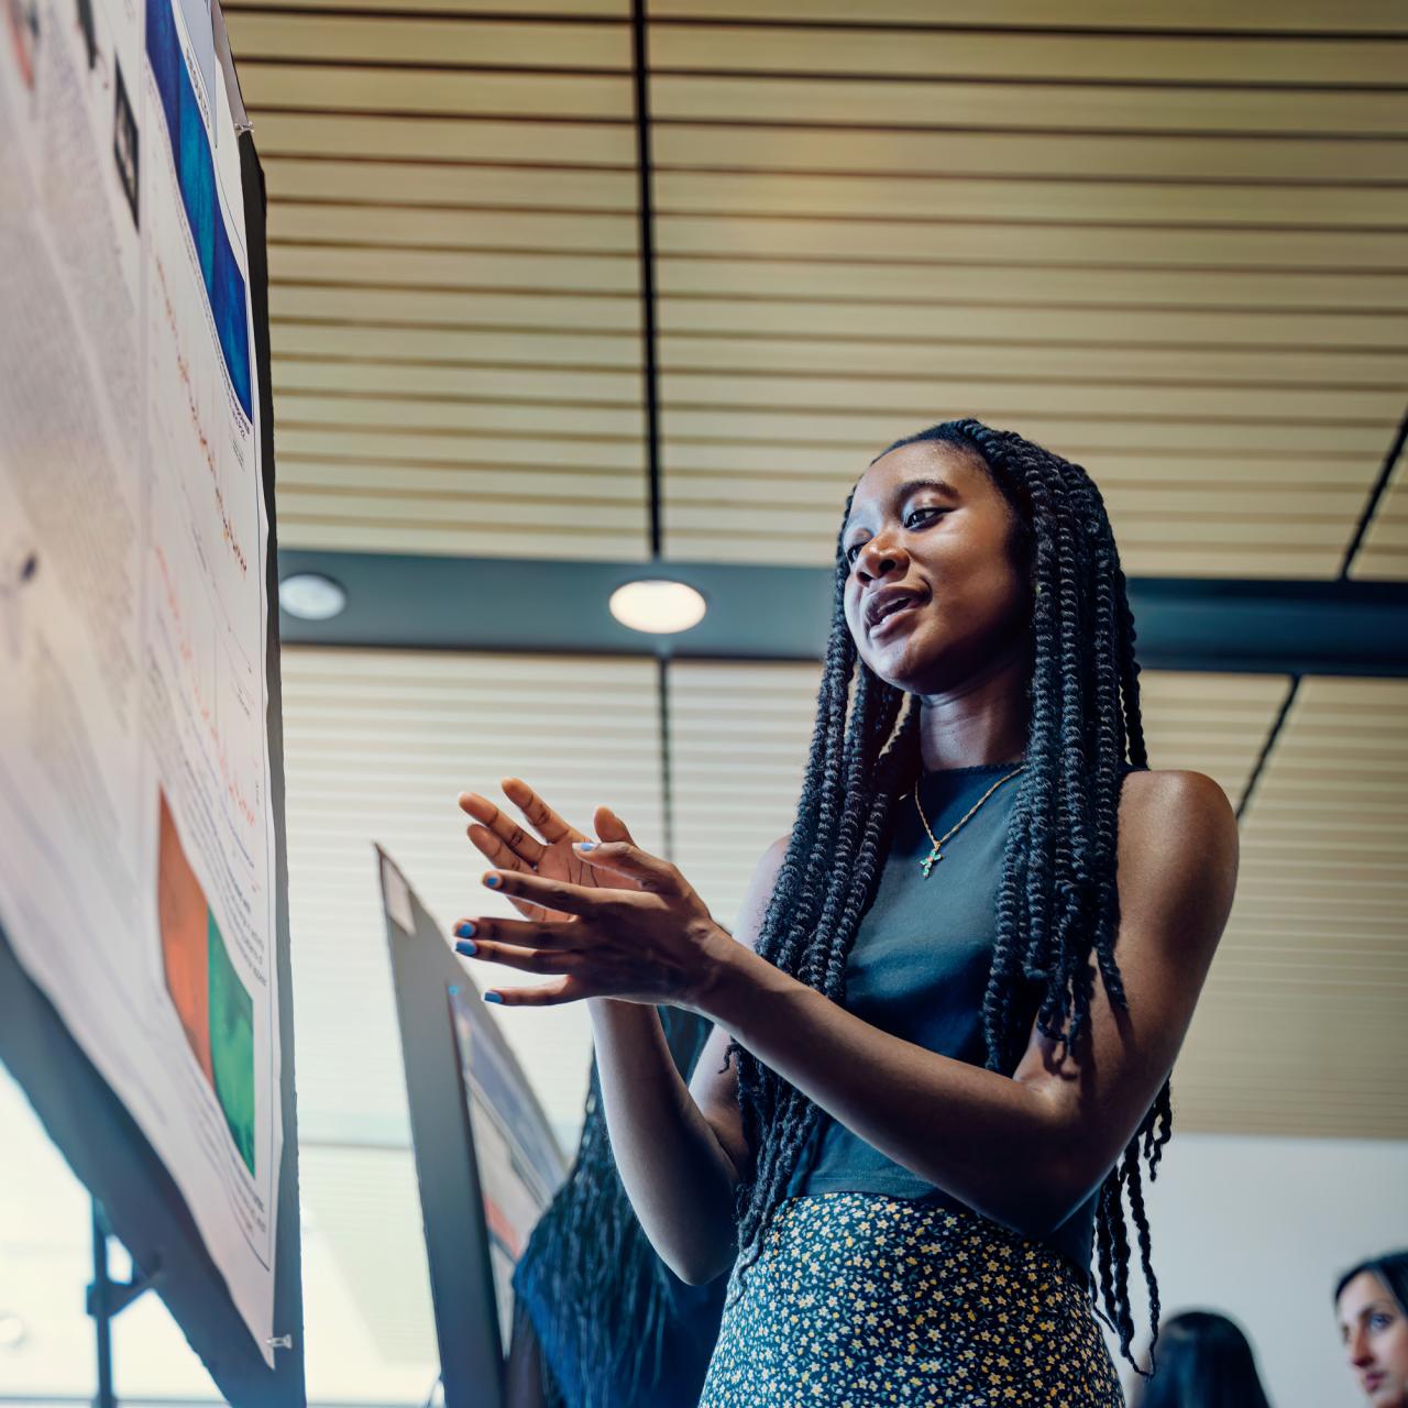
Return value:
[(1186, 1128), (1408, 1138), (1408, 684), (1305, 679), (1174, 1074)]

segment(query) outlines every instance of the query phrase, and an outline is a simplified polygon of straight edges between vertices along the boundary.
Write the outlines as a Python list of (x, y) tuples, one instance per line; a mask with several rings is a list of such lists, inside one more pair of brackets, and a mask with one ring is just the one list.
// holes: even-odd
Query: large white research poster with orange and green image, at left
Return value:
[(283, 1132), (244, 108), (203, 0), (0, 10), (0, 921), (272, 1364)]

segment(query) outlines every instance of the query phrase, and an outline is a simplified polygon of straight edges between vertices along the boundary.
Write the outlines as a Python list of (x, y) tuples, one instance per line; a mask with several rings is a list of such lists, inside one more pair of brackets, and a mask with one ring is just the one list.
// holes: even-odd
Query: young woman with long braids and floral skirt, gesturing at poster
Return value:
[[(660, 1256), (732, 1266), (701, 1404), (1119, 1402), (1140, 1162), (1232, 903), (1236, 826), (1148, 770), (1114, 536), (1076, 465), (979, 421), (862, 474), (790, 836), (734, 935), (607, 810), (465, 796), (465, 952), (587, 998), (611, 1145)], [(676, 1076), (653, 1004), (715, 1031)], [(1091, 1253), (1094, 1252), (1094, 1256)]]

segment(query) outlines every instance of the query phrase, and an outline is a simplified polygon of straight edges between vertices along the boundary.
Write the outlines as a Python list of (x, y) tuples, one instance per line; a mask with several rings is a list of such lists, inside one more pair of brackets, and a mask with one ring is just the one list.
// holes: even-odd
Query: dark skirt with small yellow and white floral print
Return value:
[(1080, 1276), (970, 1212), (788, 1198), (728, 1286), (700, 1408), (1122, 1408)]

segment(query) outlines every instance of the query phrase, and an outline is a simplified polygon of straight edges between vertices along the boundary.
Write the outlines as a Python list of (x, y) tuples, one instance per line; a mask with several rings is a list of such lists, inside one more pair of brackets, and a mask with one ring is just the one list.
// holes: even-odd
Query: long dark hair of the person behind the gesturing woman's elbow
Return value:
[[(659, 1014), (687, 1080), (710, 1024), (672, 1007)], [(612, 1385), (622, 1385), (628, 1402), (648, 1401), (669, 1367), (669, 1277), (621, 1184), (593, 1057), (572, 1170), (514, 1269), (514, 1315), (532, 1322), (548, 1408), (608, 1408), (617, 1402)], [(559, 1373), (569, 1381), (559, 1383)]]

